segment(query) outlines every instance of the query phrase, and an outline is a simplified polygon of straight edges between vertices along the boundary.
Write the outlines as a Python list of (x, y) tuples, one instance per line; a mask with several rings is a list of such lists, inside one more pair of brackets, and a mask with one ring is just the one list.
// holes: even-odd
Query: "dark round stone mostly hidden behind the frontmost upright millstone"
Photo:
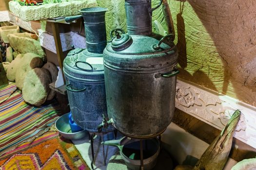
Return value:
[[(47, 69), (51, 73), (52, 82), (56, 82), (58, 77), (58, 72), (59, 72), (58, 68), (53, 63), (50, 63), (50, 62), (46, 63), (42, 68)], [(56, 91), (51, 89), (46, 100), (47, 101), (52, 100), (55, 97), (55, 95), (56, 95)]]

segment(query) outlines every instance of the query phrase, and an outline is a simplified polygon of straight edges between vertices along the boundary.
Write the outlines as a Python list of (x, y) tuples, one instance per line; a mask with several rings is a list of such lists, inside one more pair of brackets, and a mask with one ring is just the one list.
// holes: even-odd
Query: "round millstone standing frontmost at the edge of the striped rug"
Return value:
[(22, 95), (25, 102), (40, 106), (50, 91), (51, 75), (47, 69), (34, 68), (30, 70), (24, 80)]

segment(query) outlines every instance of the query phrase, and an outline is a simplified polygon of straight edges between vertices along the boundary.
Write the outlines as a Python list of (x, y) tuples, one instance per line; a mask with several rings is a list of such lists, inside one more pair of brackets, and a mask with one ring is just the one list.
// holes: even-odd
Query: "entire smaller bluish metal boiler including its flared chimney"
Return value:
[[(98, 132), (107, 115), (102, 52), (106, 46), (105, 8), (82, 9), (86, 49), (70, 51), (63, 61), (63, 72), (74, 121), (89, 132)], [(103, 132), (113, 131), (109, 126)]]

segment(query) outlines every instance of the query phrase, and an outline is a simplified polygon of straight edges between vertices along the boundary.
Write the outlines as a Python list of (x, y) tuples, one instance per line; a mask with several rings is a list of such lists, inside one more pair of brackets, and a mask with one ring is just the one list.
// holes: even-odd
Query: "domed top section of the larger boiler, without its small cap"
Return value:
[(130, 71), (154, 71), (174, 67), (177, 64), (177, 47), (168, 40), (171, 35), (130, 35), (132, 44), (115, 51), (112, 43), (103, 52), (104, 65), (108, 68)]

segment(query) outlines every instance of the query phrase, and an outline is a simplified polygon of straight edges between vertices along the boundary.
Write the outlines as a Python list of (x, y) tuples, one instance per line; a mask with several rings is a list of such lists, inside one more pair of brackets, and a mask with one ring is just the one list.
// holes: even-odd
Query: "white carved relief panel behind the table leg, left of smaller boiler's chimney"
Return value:
[[(39, 32), (39, 40), (40, 40), (41, 46), (49, 51), (57, 53), (53, 35), (47, 32), (43, 32), (42, 30), (38, 30), (38, 32)], [(68, 32), (68, 33), (60, 33), (59, 35), (60, 35), (62, 51), (67, 51), (72, 49), (71, 47), (72, 45), (74, 45), (75, 48), (83, 48), (83, 49), (86, 48), (85, 37), (77, 33)]]

